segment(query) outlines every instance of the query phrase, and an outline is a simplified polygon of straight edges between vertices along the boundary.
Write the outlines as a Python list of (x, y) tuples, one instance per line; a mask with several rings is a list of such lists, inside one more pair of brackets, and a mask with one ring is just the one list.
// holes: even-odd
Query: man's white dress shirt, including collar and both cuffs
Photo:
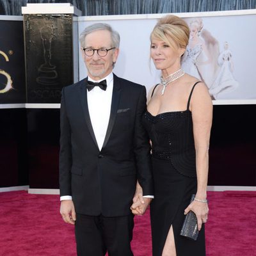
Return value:
[[(87, 91), (88, 111), (99, 150), (102, 148), (108, 129), (113, 93), (113, 73), (111, 72), (99, 81), (95, 81), (88, 76), (88, 81), (97, 83), (104, 79), (107, 81), (106, 91), (99, 88), (99, 86), (95, 86), (90, 92)], [(143, 197), (154, 198), (154, 196)], [(61, 196), (60, 200), (72, 200), (72, 196)]]

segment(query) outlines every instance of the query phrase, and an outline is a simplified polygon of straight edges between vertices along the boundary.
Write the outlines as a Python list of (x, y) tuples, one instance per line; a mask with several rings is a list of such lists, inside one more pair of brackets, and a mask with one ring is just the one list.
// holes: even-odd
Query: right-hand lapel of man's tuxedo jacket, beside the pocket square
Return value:
[(115, 123), (116, 113), (117, 113), (118, 104), (119, 104), (119, 100), (120, 100), (121, 85), (120, 85), (118, 77), (116, 77), (115, 74), (113, 74), (113, 79), (114, 79), (114, 81), (113, 81), (111, 111), (110, 111), (110, 116), (109, 116), (108, 129), (106, 132), (106, 137), (105, 137), (102, 148), (104, 148), (106, 146), (106, 144), (108, 143), (109, 136), (111, 134), (113, 125)]

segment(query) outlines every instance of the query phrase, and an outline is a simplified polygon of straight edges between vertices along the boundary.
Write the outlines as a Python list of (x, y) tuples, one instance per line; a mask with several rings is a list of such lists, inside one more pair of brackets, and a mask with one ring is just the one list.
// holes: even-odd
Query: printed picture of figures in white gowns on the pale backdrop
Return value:
[(204, 28), (202, 18), (185, 20), (190, 33), (188, 47), (182, 56), (182, 68), (207, 84), (212, 99), (221, 99), (239, 85), (233, 76), (234, 65), (228, 43), (225, 42), (224, 50), (220, 52), (218, 40)]

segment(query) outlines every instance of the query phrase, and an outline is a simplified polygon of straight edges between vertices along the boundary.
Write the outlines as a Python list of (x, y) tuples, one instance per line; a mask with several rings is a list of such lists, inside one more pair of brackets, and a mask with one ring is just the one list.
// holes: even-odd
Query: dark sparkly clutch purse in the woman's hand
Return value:
[[(190, 203), (194, 200), (194, 198), (195, 195), (192, 195)], [(197, 226), (196, 214), (193, 211), (189, 211), (180, 230), (180, 236), (185, 236), (196, 241), (198, 233), (199, 230)]]

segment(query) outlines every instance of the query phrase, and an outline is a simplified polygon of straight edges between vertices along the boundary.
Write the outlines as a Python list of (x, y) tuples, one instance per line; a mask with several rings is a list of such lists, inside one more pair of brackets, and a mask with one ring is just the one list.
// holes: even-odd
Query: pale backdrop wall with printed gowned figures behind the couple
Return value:
[[(246, 100), (256, 100), (256, 35), (253, 33), (256, 11), (178, 15), (184, 17), (198, 42), (193, 48), (187, 47), (182, 60), (184, 70), (207, 84), (212, 99), (245, 100), (241, 104)], [(114, 72), (149, 89), (160, 81), (160, 72), (150, 61), (149, 54), (150, 33), (162, 16), (105, 16), (90, 17), (90, 20), (79, 17), (79, 34), (94, 22), (113, 26), (121, 37), (120, 55)], [(86, 76), (83, 60), (79, 58), (79, 79)]]

